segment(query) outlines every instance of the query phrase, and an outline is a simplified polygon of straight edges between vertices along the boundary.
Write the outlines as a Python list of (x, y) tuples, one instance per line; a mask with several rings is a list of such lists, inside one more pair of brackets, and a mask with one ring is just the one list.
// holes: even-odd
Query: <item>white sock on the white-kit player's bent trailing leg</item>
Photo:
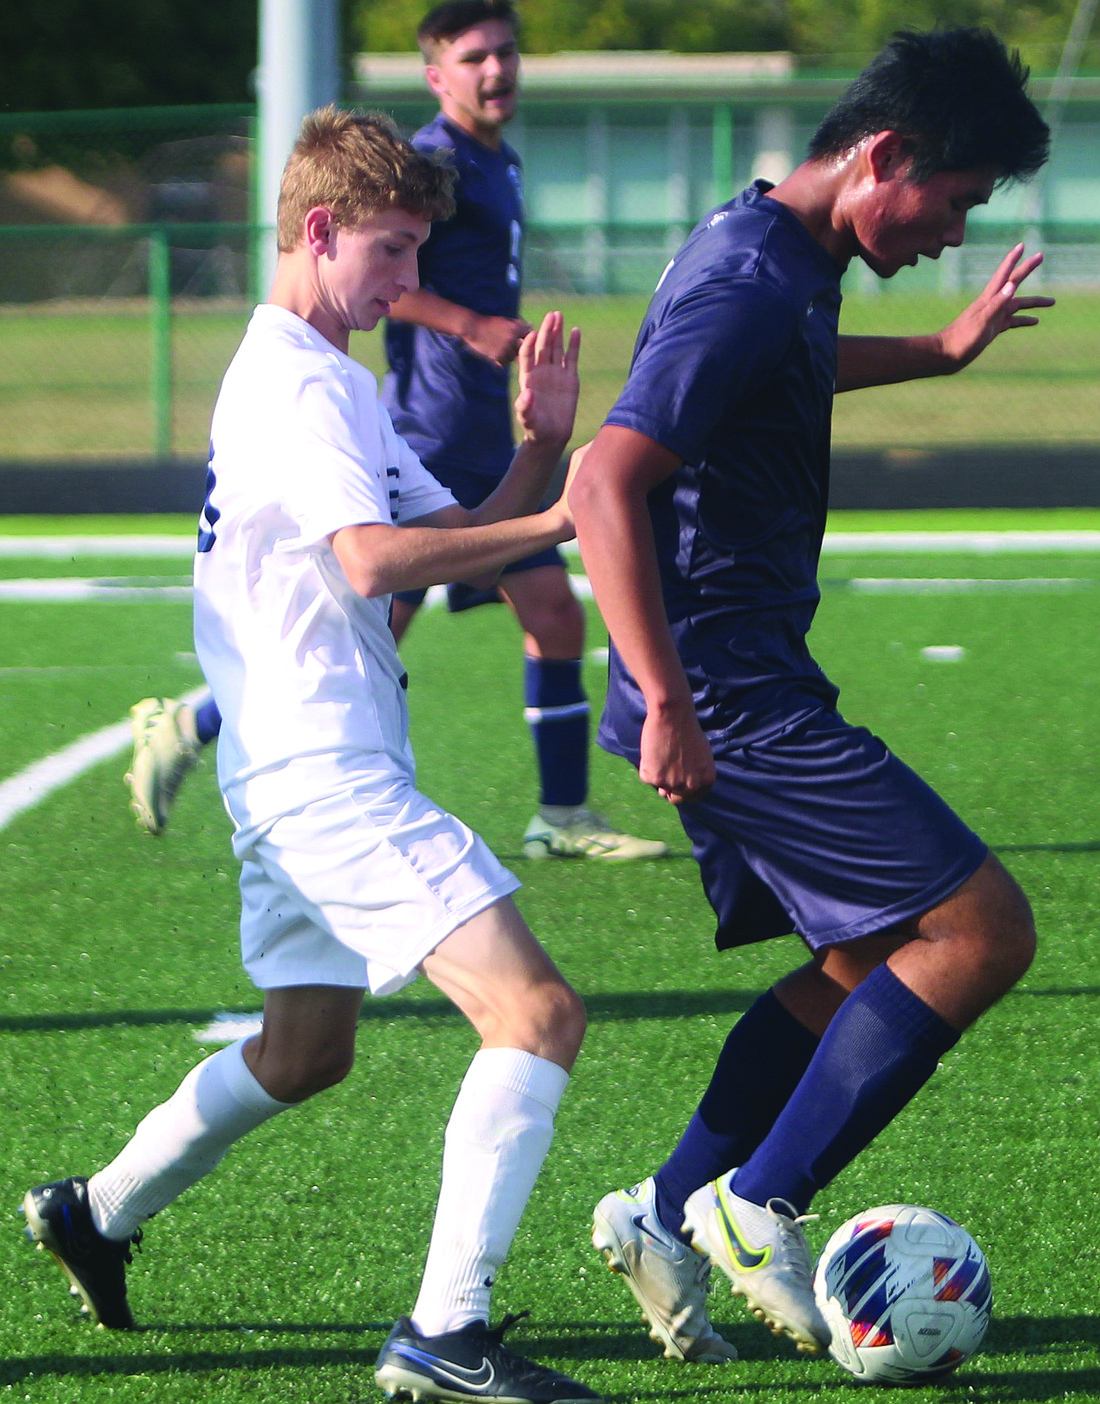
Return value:
[(108, 1238), (138, 1224), (208, 1175), (235, 1140), (292, 1102), (277, 1102), (244, 1061), (244, 1039), (192, 1067), (155, 1106), (110, 1165), (89, 1179), (89, 1207)]

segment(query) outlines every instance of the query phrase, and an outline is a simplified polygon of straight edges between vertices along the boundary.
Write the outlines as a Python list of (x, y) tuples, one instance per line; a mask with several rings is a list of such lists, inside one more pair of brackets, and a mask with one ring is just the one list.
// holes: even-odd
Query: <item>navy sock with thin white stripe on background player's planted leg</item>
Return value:
[(580, 658), (524, 658), (524, 717), (538, 760), (541, 804), (583, 804), (589, 793), (589, 699)]

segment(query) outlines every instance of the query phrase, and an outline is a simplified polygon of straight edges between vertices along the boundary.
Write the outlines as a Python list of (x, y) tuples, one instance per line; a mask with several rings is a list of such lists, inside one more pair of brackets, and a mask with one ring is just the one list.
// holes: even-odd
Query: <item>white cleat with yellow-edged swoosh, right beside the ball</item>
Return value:
[(763, 1207), (742, 1199), (729, 1188), (735, 1174), (688, 1195), (684, 1228), (754, 1316), (775, 1335), (790, 1335), (799, 1351), (818, 1355), (830, 1335), (813, 1300), (813, 1264), (802, 1231), (808, 1216), (785, 1199), (768, 1199)]

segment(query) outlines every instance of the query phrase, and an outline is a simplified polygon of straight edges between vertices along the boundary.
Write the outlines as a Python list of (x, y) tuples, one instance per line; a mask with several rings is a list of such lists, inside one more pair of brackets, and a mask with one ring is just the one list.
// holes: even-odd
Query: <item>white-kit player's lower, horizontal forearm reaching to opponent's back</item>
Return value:
[(492, 578), (510, 562), (569, 536), (568, 518), (551, 508), (479, 526), (346, 526), (333, 536), (333, 550), (351, 588), (371, 598), (452, 580)]

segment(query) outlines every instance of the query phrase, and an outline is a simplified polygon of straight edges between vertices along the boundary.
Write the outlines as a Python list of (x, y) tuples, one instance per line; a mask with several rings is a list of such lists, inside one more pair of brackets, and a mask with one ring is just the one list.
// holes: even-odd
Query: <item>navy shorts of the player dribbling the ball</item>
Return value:
[(877, 736), (830, 708), (716, 748), (715, 762), (714, 789), (680, 819), (719, 951), (791, 931), (815, 951), (889, 931), (950, 897), (988, 852)]

